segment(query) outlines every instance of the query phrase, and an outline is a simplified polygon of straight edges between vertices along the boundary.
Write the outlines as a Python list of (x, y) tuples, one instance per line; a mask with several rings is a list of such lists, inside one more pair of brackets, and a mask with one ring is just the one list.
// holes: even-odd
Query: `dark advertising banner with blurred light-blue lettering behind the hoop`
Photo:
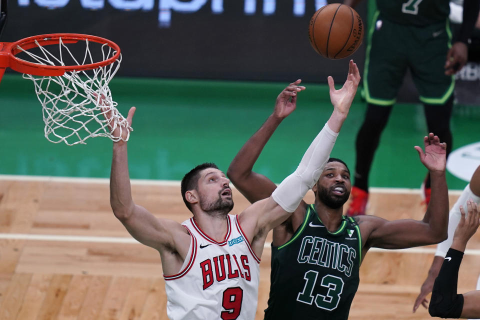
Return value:
[[(334, 2), (334, 1), (331, 1)], [(86, 33), (116, 42), (119, 75), (344, 81), (348, 58), (329, 60), (308, 40), (327, 0), (10, 0), (1, 41)], [(357, 11), (366, 16), (366, 1)], [(352, 56), (363, 70), (364, 44)]]

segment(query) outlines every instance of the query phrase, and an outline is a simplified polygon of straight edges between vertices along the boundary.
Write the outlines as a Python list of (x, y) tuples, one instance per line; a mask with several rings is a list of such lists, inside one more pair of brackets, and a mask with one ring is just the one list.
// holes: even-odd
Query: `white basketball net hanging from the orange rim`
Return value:
[[(39, 52), (32, 53), (31, 49), (28, 51), (19, 46), (18, 49), (31, 58), (31, 62), (45, 65), (65, 65), (66, 59), (66, 65), (90, 64), (106, 60), (116, 53), (106, 43), (87, 39), (79, 42), (85, 43), (83, 56), (79, 60), (61, 38), (58, 45), (49, 46), (41, 46), (35, 40)], [(93, 47), (101, 51), (102, 60), (94, 60), (91, 53)], [(99, 52), (96, 54), (100, 55)], [(65, 71), (60, 76), (23, 74), (23, 78), (31, 79), (35, 85), (36, 95), (42, 105), (45, 137), (49, 141), (63, 141), (68, 145), (85, 144), (87, 138), (95, 136), (106, 136), (113, 141), (128, 140), (132, 128), (117, 110), (117, 102), (112, 100), (108, 87), (120, 62), (121, 55), (113, 63), (91, 70)], [(126, 137), (122, 138), (121, 133), (119, 136), (111, 134), (117, 127), (120, 132), (126, 130)]]

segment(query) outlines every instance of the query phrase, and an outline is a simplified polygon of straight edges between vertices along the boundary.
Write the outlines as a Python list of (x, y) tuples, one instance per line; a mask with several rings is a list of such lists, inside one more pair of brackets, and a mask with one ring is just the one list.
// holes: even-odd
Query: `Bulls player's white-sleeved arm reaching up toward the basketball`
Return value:
[(359, 80), (358, 68), (353, 60), (349, 62), (348, 76), (341, 89), (335, 90), (333, 79), (329, 77), (333, 112), (303, 154), (297, 169), (280, 183), (270, 197), (253, 203), (240, 213), (242, 229), (249, 239), (253, 239), (255, 253), (261, 253), (268, 231), (288, 218), (318, 180), (348, 114)]

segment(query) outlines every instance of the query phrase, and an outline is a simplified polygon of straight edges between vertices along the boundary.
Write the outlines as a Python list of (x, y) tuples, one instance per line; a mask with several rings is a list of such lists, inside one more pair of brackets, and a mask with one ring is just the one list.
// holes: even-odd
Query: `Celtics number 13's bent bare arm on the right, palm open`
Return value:
[(375, 216), (359, 216), (359, 223), (368, 227), (365, 249), (380, 247), (400, 249), (443, 241), (447, 237), (448, 189), (445, 179), (446, 144), (430, 133), (424, 139), (425, 151), (415, 146), (420, 161), (431, 179), (431, 199), (422, 220), (400, 219), (388, 221)]

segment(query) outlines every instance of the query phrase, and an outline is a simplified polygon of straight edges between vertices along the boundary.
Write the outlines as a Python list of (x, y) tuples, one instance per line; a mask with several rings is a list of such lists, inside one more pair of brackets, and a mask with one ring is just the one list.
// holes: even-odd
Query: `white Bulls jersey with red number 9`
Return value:
[(225, 239), (217, 242), (193, 218), (182, 224), (191, 235), (180, 272), (163, 275), (166, 312), (171, 320), (253, 320), (258, 299), (260, 259), (228, 214)]

